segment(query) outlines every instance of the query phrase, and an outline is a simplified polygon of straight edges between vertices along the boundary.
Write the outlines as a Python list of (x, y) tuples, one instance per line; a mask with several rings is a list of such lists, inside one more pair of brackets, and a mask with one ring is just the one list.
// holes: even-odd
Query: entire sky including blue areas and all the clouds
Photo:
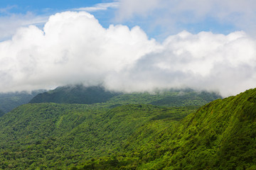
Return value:
[(256, 87), (256, 1), (1, 0), (0, 92)]

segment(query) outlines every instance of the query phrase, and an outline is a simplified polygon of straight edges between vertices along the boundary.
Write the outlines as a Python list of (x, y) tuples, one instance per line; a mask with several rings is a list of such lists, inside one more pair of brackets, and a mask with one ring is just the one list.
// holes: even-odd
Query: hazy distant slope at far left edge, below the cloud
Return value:
[(44, 90), (32, 91), (28, 93), (26, 91), (0, 93), (0, 110), (7, 113), (14, 108), (26, 104), (37, 94), (42, 93)]

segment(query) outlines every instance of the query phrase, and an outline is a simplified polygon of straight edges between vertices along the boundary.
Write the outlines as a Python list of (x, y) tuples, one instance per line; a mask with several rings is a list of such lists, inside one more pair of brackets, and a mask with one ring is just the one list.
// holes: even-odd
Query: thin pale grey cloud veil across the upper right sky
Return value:
[(255, 35), (255, 8), (256, 1), (253, 0), (119, 0), (117, 21), (150, 18), (151, 25), (168, 28), (169, 33), (176, 33), (189, 24), (203, 23), (211, 29), (213, 25), (206, 25), (214, 21), (215, 25), (227, 25)]

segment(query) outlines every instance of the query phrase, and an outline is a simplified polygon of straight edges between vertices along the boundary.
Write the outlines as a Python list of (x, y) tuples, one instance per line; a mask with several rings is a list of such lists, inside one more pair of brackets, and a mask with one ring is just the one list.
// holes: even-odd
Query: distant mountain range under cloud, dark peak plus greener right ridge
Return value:
[(107, 91), (101, 86), (82, 85), (60, 86), (52, 91), (38, 94), (29, 103), (112, 103), (120, 106), (129, 103), (152, 104), (156, 106), (202, 106), (220, 95), (213, 92), (193, 91), (192, 89), (171, 89), (154, 93), (123, 94)]

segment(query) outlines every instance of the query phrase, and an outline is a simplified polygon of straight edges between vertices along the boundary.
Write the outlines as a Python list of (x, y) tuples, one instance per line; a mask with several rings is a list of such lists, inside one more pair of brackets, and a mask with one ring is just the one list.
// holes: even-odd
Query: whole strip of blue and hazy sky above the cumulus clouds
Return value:
[[(186, 2), (186, 0), (183, 1)], [(215, 1), (217, 3), (214, 4), (212, 1), (208, 1), (208, 4), (194, 3), (191, 5), (189, 3), (178, 4), (175, 1), (171, 2), (166, 0), (131, 0), (128, 2), (127, 0), (2, 0), (0, 4), (0, 18), (9, 18), (9, 20), (13, 20), (14, 22), (18, 19), (28, 20), (29, 18), (33, 20), (34, 18), (31, 24), (43, 26), (44, 23), (36, 23), (38, 20), (35, 21), (35, 18), (41, 17), (41, 21), (43, 22), (47, 21), (48, 16), (57, 12), (75, 11), (74, 9), (94, 7), (98, 4), (120, 3), (120, 6), (116, 8), (109, 7), (105, 10), (89, 12), (92, 13), (105, 28), (110, 26), (110, 24), (123, 24), (129, 26), (129, 28), (140, 26), (150, 38), (156, 38), (157, 40), (164, 40), (168, 35), (176, 34), (182, 30), (188, 30), (191, 33), (211, 31), (225, 35), (235, 30), (247, 29), (250, 31), (250, 29), (252, 29), (250, 26), (249, 28), (243, 28), (243, 25), (245, 25), (244, 17), (247, 17), (247, 13), (255, 14), (250, 13), (252, 9), (254, 10), (253, 6), (255, 6), (255, 3), (247, 3), (247, 1), (244, 1), (245, 6), (238, 8), (233, 4), (238, 4), (239, 6), (240, 2), (226, 1), (227, 3), (218, 3), (218, 1)], [(141, 7), (135, 7), (135, 5), (131, 5), (132, 3)], [(144, 5), (145, 3), (149, 5), (146, 6)], [(159, 4), (164, 5), (160, 6)], [(174, 7), (172, 8), (171, 6)], [(209, 8), (209, 6), (215, 7)], [(250, 6), (250, 8), (247, 9), (247, 6)], [(206, 10), (202, 10), (202, 8), (206, 8)], [(30, 16), (28, 16), (28, 14)], [(252, 20), (251, 25), (254, 25), (253, 20), (255, 19), (252, 18), (253, 17), (250, 18)], [(8, 25), (12, 25), (9, 22), (6, 22), (6, 28)], [(4, 25), (4, 22), (2, 22), (1, 25)], [(18, 27), (18, 24), (16, 24), (16, 27)]]

